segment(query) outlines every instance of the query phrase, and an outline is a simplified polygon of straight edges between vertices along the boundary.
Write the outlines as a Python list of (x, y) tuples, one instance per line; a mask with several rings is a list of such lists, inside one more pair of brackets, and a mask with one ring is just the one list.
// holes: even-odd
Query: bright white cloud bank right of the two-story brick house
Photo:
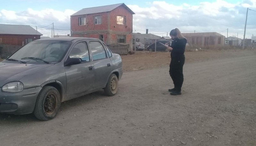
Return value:
[[(256, 0), (228, 3), (224, 0), (202, 2), (198, 5), (173, 5), (164, 1), (148, 3), (149, 7), (128, 5), (135, 12), (133, 29), (145, 33), (146, 28), (154, 34), (165, 36), (171, 29), (180, 28), (182, 32), (221, 32), (228, 28), (229, 36), (243, 37), (246, 8), (256, 8)], [(246, 37), (256, 34), (256, 12), (248, 12)], [(250, 34), (249, 34), (250, 33)], [(227, 36), (227, 31), (221, 32)], [(162, 34), (161, 34), (162, 36)]]

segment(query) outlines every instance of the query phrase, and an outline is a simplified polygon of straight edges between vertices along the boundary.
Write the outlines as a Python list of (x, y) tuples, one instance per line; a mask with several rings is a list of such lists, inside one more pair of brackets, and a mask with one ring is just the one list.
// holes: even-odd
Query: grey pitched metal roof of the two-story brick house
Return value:
[(84, 9), (82, 9), (82, 10), (72, 14), (71, 16), (94, 14), (94, 13), (102, 13), (102, 12), (110, 12), (110, 11), (116, 9), (117, 7), (121, 6), (121, 5), (124, 6), (132, 14), (135, 14), (124, 3), (121, 3), (121, 4), (112, 4), (112, 5), (105, 5), (105, 6), (92, 7), (92, 8), (84, 8)]

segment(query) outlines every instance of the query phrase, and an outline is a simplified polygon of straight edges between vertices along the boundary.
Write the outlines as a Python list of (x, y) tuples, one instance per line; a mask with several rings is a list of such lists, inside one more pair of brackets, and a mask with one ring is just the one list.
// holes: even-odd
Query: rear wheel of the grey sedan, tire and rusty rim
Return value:
[(112, 74), (109, 79), (106, 87), (104, 88), (105, 94), (108, 96), (116, 95), (118, 90), (118, 78), (115, 74)]

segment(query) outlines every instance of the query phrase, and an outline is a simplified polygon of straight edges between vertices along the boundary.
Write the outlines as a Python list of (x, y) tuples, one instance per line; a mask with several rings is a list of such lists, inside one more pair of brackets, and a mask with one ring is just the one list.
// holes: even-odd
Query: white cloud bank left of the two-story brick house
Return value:
[[(64, 10), (56, 11), (53, 9), (44, 9), (40, 11), (33, 10), (28, 8), (25, 11), (15, 12), (15, 11), (8, 11), (8, 10), (0, 10), (0, 22), (4, 24), (20, 24), (20, 25), (30, 25), (33, 28), (40, 28), (38, 31), (42, 34), (52, 35), (52, 24), (54, 22), (55, 35), (57, 33), (59, 35), (70, 34), (69, 30), (63, 29), (70, 29), (70, 15), (74, 14), (76, 11), (74, 10)], [(48, 27), (45, 27), (48, 26)]]

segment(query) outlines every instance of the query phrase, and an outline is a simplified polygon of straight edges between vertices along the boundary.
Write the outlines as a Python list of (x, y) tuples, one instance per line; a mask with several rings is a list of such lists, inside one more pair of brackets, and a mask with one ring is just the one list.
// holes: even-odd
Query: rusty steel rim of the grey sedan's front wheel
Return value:
[(46, 114), (52, 115), (56, 111), (56, 108), (57, 97), (54, 94), (49, 93), (44, 99), (44, 111), (46, 112)]

